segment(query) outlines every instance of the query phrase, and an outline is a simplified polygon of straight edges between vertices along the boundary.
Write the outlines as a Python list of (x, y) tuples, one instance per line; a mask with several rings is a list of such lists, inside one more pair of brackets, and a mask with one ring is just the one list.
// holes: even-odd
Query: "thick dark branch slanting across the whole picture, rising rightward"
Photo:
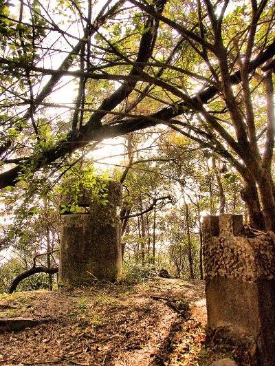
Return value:
[[(261, 66), (267, 60), (269, 60), (275, 54), (275, 40), (266, 47), (266, 49), (261, 52), (253, 61), (250, 63), (249, 70), (253, 72), (257, 67)], [(240, 71), (235, 72), (230, 76), (230, 84), (239, 84), (241, 80)], [(199, 99), (202, 104), (208, 103), (208, 100), (217, 94), (216, 87), (208, 87), (201, 90), (192, 98), (193, 102), (196, 103)], [(84, 147), (89, 142), (92, 141), (102, 141), (105, 138), (114, 138), (117, 136), (122, 136), (126, 133), (138, 131), (140, 129), (145, 129), (147, 127), (153, 127), (159, 123), (167, 122), (175, 116), (180, 114), (190, 113), (190, 109), (187, 107), (185, 101), (177, 103), (175, 106), (166, 107), (157, 111), (155, 114), (150, 116), (143, 116), (138, 118), (129, 118), (128, 120), (118, 120), (115, 125), (102, 126), (100, 129), (94, 129), (92, 131), (87, 131), (86, 127), (83, 126), (75, 136), (68, 135), (67, 138), (59, 142), (56, 147), (49, 149), (47, 151), (41, 152), (41, 157), (36, 160), (36, 164), (33, 167), (33, 171), (41, 169), (43, 164), (50, 164), (65, 156), (67, 153), (72, 153), (80, 147)], [(28, 162), (28, 160), (27, 160)], [(5, 186), (14, 185), (19, 172), (21, 171), (21, 166), (15, 166), (14, 168), (5, 171), (0, 174), (0, 189)]]

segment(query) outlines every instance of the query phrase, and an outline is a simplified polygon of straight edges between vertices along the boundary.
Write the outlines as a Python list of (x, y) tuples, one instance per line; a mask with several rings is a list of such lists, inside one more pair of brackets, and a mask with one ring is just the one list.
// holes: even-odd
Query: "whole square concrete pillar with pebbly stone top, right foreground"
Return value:
[(241, 215), (203, 222), (208, 326), (254, 343), (256, 365), (275, 365), (274, 242), (243, 233)]

